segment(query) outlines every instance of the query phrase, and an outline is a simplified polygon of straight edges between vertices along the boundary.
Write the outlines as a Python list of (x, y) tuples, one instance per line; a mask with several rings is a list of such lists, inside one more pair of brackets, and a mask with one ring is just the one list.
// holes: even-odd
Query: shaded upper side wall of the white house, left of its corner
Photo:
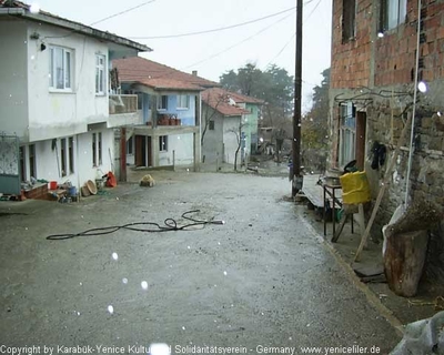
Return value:
[(28, 38), (24, 22), (0, 21), (0, 132), (28, 140)]

